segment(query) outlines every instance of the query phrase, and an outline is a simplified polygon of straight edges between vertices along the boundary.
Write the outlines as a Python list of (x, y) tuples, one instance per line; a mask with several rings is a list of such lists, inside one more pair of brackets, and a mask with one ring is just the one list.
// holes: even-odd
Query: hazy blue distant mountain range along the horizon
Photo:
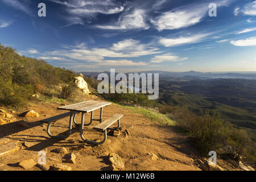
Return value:
[[(87, 77), (97, 77), (100, 72), (81, 72), (82, 75)], [(104, 72), (108, 75), (110, 72)], [(209, 79), (209, 78), (243, 78), (249, 80), (256, 80), (256, 72), (167, 72), (167, 71), (145, 71), (138, 73), (159, 73), (159, 77), (176, 77), (191, 79)]]

